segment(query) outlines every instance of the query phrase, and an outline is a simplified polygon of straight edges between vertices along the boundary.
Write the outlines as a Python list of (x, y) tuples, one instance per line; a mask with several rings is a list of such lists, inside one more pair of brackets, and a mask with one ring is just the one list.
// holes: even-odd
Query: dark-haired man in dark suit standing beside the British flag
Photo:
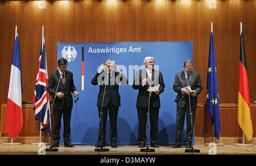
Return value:
[[(73, 107), (72, 94), (78, 96), (76, 87), (73, 82), (73, 73), (67, 71), (68, 61), (64, 58), (58, 60), (59, 69), (50, 74), (47, 91), (52, 95), (54, 103), (52, 105), (54, 115), (53, 141), (52, 147), (59, 147), (61, 117), (63, 115), (64, 122), (64, 146), (74, 147), (70, 143), (69, 137), (71, 133), (70, 121), (71, 110)], [(59, 85), (59, 86), (58, 86)], [(57, 90), (57, 91), (56, 91)], [(56, 95), (56, 97), (55, 97)]]

